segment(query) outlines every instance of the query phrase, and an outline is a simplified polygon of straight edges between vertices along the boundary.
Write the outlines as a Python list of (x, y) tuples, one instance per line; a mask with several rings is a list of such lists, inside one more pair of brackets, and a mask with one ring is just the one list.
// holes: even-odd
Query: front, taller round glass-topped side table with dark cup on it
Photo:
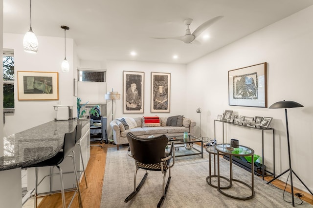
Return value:
[[(215, 150), (217, 151), (217, 189), (219, 192), (224, 194), (225, 196), (234, 198), (234, 199), (242, 199), (242, 200), (247, 200), (247, 199), (252, 199), (254, 197), (254, 165), (251, 164), (251, 186), (248, 185), (247, 183), (240, 181), (238, 179), (233, 179), (233, 166), (232, 166), (232, 157), (233, 156), (251, 156), (251, 161), (253, 160), (253, 155), (254, 155), (254, 150), (251, 148), (248, 148), (246, 146), (240, 145), (238, 148), (231, 148), (230, 144), (218, 144), (215, 145)], [(222, 188), (220, 187), (220, 154), (224, 155), (229, 155), (229, 163), (230, 163), (230, 184), (232, 185), (232, 181), (237, 181), (241, 184), (244, 184), (246, 187), (248, 187), (251, 190), (251, 195), (246, 196), (246, 197), (240, 197), (240, 196), (233, 196), (230, 194), (225, 193)]]

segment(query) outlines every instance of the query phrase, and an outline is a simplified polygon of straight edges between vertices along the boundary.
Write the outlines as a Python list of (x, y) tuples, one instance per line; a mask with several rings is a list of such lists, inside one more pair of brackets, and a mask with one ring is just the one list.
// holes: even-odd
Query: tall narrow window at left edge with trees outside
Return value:
[(3, 49), (3, 109), (14, 109), (14, 52), (12, 49)]

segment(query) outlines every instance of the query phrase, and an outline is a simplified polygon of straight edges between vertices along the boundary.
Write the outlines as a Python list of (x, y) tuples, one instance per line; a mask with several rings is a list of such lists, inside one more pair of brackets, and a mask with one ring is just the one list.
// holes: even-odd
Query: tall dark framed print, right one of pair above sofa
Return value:
[(151, 72), (151, 113), (169, 113), (171, 74)]

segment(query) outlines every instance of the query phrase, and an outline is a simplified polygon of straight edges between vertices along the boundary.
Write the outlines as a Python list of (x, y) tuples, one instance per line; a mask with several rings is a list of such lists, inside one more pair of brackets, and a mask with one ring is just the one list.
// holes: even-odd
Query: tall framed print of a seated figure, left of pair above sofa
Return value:
[(144, 75), (123, 71), (123, 113), (144, 113)]

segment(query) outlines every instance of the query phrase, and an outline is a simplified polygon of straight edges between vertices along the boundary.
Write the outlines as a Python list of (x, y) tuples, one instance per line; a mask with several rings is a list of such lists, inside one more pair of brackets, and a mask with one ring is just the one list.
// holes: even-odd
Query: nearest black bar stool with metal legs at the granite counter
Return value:
[[(83, 207), (82, 199), (81, 199), (81, 193), (79, 189), (79, 182), (78, 182), (78, 177), (77, 177), (77, 171), (76, 171), (76, 165), (75, 165), (75, 152), (74, 152), (74, 147), (76, 144), (76, 128), (73, 132), (66, 133), (64, 135), (64, 142), (63, 142), (63, 151), (59, 151), (55, 156), (28, 166), (27, 168), (35, 168), (35, 203), (34, 203), (34, 208), (37, 208), (37, 197), (38, 197), (38, 169), (39, 167), (47, 167), (47, 166), (55, 166), (58, 168), (59, 173), (60, 173), (60, 181), (61, 181), (61, 195), (62, 195), (62, 205), (63, 208), (66, 208), (65, 204), (65, 191), (64, 191), (64, 183), (63, 183), (63, 175), (62, 175), (62, 170), (60, 168), (60, 163), (67, 157), (71, 157), (73, 161), (73, 166), (74, 166), (74, 173), (75, 173), (75, 178), (76, 178), (76, 186), (78, 191), (78, 201), (79, 201), (79, 207)], [(75, 194), (74, 194), (75, 196)], [(73, 196), (73, 197), (74, 197)]]

